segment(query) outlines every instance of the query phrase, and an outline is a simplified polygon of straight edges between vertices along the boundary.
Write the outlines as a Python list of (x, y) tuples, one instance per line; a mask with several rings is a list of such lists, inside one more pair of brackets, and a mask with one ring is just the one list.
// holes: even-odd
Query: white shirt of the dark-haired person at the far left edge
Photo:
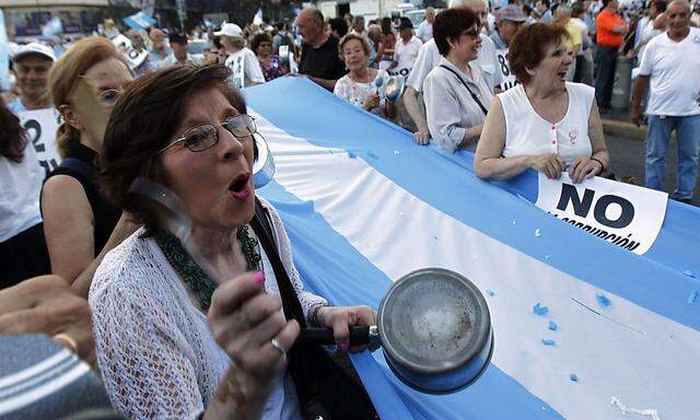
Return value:
[(0, 156), (0, 242), (42, 221), (39, 194), (44, 170), (30, 142), (21, 163)]

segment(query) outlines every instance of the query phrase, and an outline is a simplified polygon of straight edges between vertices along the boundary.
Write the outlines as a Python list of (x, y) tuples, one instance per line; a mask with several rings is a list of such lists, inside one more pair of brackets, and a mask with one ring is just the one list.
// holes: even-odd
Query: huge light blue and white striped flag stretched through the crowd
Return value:
[(306, 79), (245, 95), (277, 163), (258, 194), (308, 289), (377, 308), (393, 281), (443, 267), (486, 296), (493, 358), (466, 389), (421, 394), (382, 351), (352, 357), (382, 419), (700, 416), (700, 210), (668, 201), (638, 255), (535, 206), (535, 172), (480, 180), (472, 154), (417, 145)]

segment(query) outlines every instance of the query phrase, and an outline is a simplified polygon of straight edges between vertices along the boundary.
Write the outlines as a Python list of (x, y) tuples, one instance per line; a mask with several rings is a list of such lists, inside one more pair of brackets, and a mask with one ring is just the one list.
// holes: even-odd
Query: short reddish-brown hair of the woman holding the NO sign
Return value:
[(533, 23), (517, 30), (508, 52), (508, 62), (517, 81), (529, 83), (533, 77), (527, 69), (536, 68), (545, 59), (547, 48), (563, 43), (568, 37), (569, 32), (553, 23)]

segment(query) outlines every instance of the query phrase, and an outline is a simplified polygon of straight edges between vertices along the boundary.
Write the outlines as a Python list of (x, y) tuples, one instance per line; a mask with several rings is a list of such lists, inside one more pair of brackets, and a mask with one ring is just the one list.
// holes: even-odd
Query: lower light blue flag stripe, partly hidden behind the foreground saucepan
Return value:
[[(335, 305), (378, 307), (392, 280), (336, 232), (312, 202), (301, 201), (275, 182), (258, 194), (280, 213), (292, 242), (294, 262), (311, 291)], [(498, 331), (495, 337), (498, 346)], [(493, 364), (467, 389), (432, 396), (401, 384), (386, 366), (381, 351), (375, 354), (378, 362), (369, 352), (353, 355), (353, 362), (382, 419), (562, 418)]]

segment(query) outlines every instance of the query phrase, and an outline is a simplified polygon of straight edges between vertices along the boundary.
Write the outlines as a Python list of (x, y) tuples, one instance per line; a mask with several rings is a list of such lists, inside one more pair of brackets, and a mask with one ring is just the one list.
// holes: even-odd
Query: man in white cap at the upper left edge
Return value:
[(54, 50), (39, 43), (21, 46), (12, 57), (20, 96), (9, 104), (14, 114), (49, 108), (48, 73), (56, 61)]

